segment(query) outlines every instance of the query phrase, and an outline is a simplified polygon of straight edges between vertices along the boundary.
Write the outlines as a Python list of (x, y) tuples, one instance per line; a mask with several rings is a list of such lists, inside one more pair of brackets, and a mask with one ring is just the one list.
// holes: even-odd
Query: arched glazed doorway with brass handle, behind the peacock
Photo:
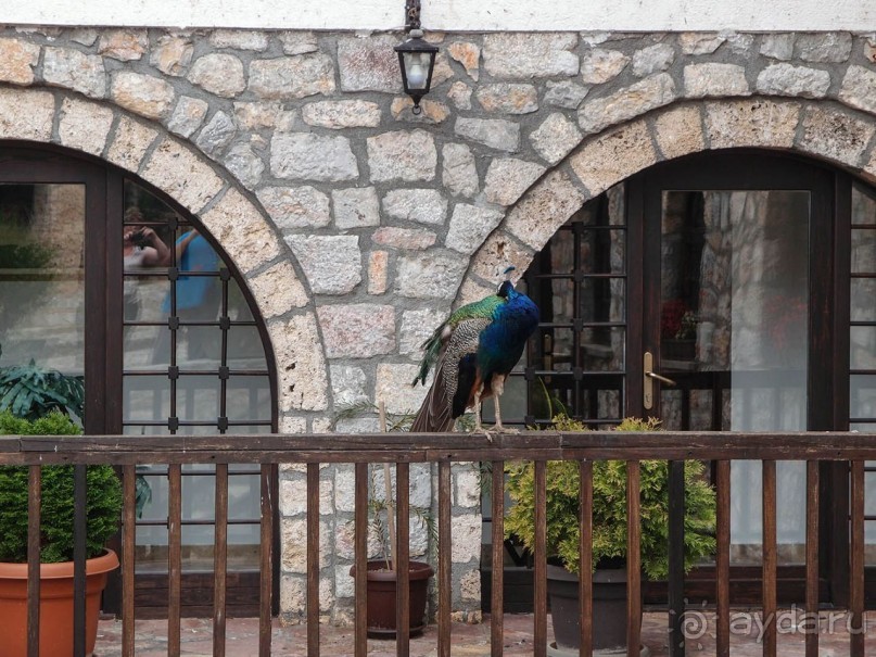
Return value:
[[(506, 387), (525, 409), (517, 420), (562, 408), (592, 426), (658, 416), (678, 430), (874, 431), (874, 199), (814, 160), (728, 150), (652, 166), (587, 201), (525, 275), (542, 325)], [(848, 467), (823, 468), (822, 597), (841, 605)], [(733, 478), (732, 596), (757, 603), (760, 477), (738, 463)], [(803, 464), (783, 464), (779, 481), (779, 595), (799, 602)], [(704, 567), (686, 595), (713, 586)]]

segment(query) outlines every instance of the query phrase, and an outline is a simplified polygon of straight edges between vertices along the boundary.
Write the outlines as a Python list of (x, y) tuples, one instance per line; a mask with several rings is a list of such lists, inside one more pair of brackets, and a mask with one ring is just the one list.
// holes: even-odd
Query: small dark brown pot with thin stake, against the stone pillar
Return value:
[[(409, 561), (410, 577), (410, 633), (422, 632), (426, 627), (426, 602), (429, 578), (434, 570), (429, 564)], [(356, 567), (350, 569), (356, 577)], [(395, 637), (395, 571), (386, 569), (385, 561), (368, 561), (368, 634), (379, 639)]]

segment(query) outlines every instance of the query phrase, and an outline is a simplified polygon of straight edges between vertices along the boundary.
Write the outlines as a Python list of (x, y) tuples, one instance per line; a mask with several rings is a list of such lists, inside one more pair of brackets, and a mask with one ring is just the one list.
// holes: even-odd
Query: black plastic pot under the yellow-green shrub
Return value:
[[(547, 596), (557, 647), (576, 654), (581, 647), (577, 576), (548, 566)], [(593, 573), (593, 649), (621, 648), (626, 648), (626, 570), (600, 568)]]

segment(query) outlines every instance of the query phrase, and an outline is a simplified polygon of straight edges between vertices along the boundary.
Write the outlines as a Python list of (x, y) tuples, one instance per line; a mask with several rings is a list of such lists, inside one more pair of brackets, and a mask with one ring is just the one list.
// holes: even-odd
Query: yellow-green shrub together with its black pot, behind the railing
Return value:
[[(659, 420), (627, 418), (618, 431), (656, 431)], [(586, 430), (566, 416), (555, 418), (553, 429)], [(664, 460), (643, 460), (642, 468), (642, 569), (651, 580), (666, 577), (669, 569), (669, 467)], [(699, 462), (685, 464), (685, 569), (714, 553), (715, 498)], [(532, 463), (508, 468), (508, 493), (512, 505), (505, 531), (516, 534), (532, 552), (535, 547), (535, 495)], [(579, 566), (579, 466), (576, 462), (547, 464), (547, 559), (554, 632), (559, 652), (577, 654), (580, 605)], [(620, 460), (593, 464), (593, 627), (594, 649), (626, 646), (626, 466)], [(558, 619), (558, 612), (569, 616)]]

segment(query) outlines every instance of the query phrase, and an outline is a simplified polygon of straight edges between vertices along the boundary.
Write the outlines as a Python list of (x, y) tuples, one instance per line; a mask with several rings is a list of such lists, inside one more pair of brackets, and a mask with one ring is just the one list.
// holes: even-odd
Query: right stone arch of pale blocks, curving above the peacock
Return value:
[(581, 205), (649, 166), (691, 153), (796, 152), (876, 181), (876, 118), (834, 101), (775, 97), (677, 102), (585, 137), (510, 207), (472, 256), (457, 303), (493, 291), (499, 267), (522, 274)]

